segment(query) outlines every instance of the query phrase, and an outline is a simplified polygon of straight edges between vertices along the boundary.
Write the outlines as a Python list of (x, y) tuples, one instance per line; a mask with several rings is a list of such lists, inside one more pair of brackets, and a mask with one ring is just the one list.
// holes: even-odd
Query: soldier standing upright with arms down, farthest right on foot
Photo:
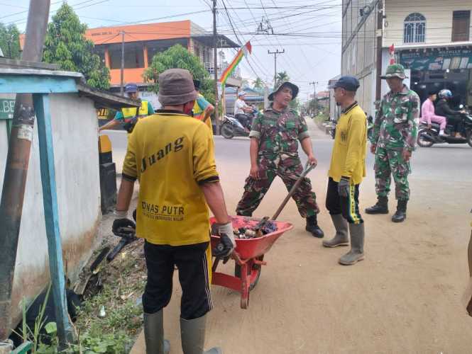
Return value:
[(403, 222), (407, 217), (410, 199), (408, 174), (410, 158), (415, 150), (419, 97), (403, 84), (405, 69), (400, 64), (390, 65), (385, 76), (390, 92), (387, 93), (375, 118), (371, 136), (371, 152), (375, 154), (375, 191), (378, 202), (366, 209), (368, 214), (388, 214), (390, 175), (395, 181), (397, 212), (393, 222)]

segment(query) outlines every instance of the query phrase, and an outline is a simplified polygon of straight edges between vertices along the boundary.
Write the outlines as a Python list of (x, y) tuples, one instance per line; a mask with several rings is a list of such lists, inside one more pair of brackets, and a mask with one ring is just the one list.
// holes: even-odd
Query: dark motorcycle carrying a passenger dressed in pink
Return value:
[[(463, 106), (461, 106), (463, 108)], [(451, 136), (453, 131), (452, 125), (446, 125), (444, 132), (448, 136), (439, 135), (439, 124), (432, 122), (431, 128), (422, 122), (419, 125), (417, 142), (420, 147), (432, 147), (434, 144), (468, 144), (472, 147), (472, 114), (469, 111), (461, 113), (463, 129), (460, 132), (465, 138)]]

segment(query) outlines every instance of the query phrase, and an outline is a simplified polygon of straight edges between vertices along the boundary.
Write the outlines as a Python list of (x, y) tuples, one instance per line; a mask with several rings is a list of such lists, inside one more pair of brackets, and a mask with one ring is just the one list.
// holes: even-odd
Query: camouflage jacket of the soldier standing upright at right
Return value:
[(371, 143), (385, 149), (415, 150), (419, 97), (403, 86), (400, 93), (387, 93), (375, 117)]

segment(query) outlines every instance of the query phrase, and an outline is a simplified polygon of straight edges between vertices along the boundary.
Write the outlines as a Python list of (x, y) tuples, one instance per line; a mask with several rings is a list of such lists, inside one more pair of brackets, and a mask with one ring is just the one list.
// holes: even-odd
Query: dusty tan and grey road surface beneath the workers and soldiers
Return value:
[[(310, 173), (321, 206), (332, 140), (309, 122), (319, 167)], [(124, 154), (126, 135), (112, 132), (115, 159)], [(226, 204), (234, 212), (249, 170), (248, 139), (215, 137), (216, 162)], [(338, 265), (344, 249), (324, 249), (304, 231), (290, 201), (280, 219), (294, 229), (265, 256), (249, 309), (239, 309), (234, 291), (212, 287), (207, 344), (224, 353), (471, 353), (472, 319), (460, 299), (468, 280), (466, 249), (471, 228), (472, 148), (418, 149), (410, 177), (412, 200), (403, 224), (391, 215), (363, 215), (366, 260)], [(361, 185), (361, 210), (375, 202), (373, 156)], [(285, 196), (276, 179), (255, 216), (272, 215)], [(392, 198), (393, 199), (393, 198)], [(390, 200), (390, 210), (395, 201)], [(334, 234), (322, 207), (319, 224)], [(233, 265), (222, 269), (232, 273)], [(171, 353), (180, 351), (180, 287), (165, 309)], [(133, 354), (144, 353), (141, 336)]]

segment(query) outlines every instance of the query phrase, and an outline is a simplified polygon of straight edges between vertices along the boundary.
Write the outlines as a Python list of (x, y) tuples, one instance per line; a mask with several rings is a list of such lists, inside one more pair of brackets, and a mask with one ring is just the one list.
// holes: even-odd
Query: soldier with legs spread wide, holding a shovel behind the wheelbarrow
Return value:
[[(238, 215), (252, 216), (267, 193), (275, 176), (282, 178), (290, 190), (303, 171), (298, 156), (298, 140), (311, 164), (317, 164), (313, 156), (312, 141), (309, 139), (307, 123), (288, 105), (297, 97), (298, 87), (284, 82), (270, 93), (273, 101), (270, 108), (259, 114), (251, 127), (251, 173), (246, 179), (244, 193), (236, 207)], [(319, 212), (312, 184), (304, 178), (293, 194), (298, 211), (307, 219), (307, 231), (322, 238), (324, 233), (317, 223)]]

